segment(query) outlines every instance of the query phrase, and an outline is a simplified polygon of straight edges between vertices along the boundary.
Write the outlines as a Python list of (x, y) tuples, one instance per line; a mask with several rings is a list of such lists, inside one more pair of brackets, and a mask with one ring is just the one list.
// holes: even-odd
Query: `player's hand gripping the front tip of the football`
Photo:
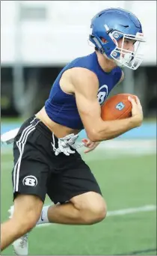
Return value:
[(135, 96), (135, 99), (130, 96), (128, 97), (128, 100), (132, 103), (132, 118), (134, 120), (135, 127), (140, 127), (144, 119), (144, 115), (140, 100), (137, 96)]

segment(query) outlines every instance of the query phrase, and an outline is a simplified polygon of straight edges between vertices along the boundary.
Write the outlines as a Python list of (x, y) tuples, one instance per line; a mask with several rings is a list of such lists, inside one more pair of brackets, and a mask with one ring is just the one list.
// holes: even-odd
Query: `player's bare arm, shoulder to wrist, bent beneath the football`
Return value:
[[(75, 68), (72, 74), (73, 91), (81, 121), (90, 141), (104, 141), (138, 127), (141, 122), (134, 117), (115, 121), (102, 121), (101, 107), (97, 100), (99, 83), (90, 70)], [(136, 118), (137, 119), (137, 118)]]

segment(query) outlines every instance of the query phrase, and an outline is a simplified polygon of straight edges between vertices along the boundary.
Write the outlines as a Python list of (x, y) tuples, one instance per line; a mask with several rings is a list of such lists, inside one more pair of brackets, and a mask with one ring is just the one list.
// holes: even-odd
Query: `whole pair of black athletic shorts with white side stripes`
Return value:
[(55, 156), (52, 143), (57, 147), (58, 138), (53, 138), (55, 141), (52, 132), (35, 117), (22, 124), (13, 143), (13, 198), (18, 194), (37, 195), (44, 201), (47, 194), (57, 204), (84, 192), (102, 195), (77, 150), (70, 156)]

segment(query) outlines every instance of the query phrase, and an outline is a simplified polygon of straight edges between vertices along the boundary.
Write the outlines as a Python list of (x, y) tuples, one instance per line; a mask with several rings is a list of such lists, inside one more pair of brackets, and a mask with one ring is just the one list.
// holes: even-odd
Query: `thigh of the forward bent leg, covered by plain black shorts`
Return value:
[[(69, 156), (67, 156), (69, 157)], [(92, 195), (91, 198), (102, 198), (99, 184), (89, 166), (81, 159), (79, 153), (69, 158), (69, 165), (60, 174), (52, 174), (48, 184), (48, 195), (56, 203), (74, 200), (76, 196)], [(91, 192), (91, 193), (90, 193)], [(87, 196), (85, 195), (87, 193)]]

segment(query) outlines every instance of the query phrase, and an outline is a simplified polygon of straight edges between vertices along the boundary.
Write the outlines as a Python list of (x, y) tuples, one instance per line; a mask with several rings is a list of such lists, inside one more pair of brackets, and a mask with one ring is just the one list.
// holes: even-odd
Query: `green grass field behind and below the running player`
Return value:
[[(29, 236), (30, 255), (156, 255), (156, 143), (143, 142), (117, 141), (117, 146), (109, 143), (83, 155), (108, 211), (136, 208), (136, 212), (124, 210), (123, 215), (108, 216), (92, 226), (40, 225)], [(12, 204), (12, 167), (11, 151), (2, 149), (1, 221), (7, 219)], [(147, 206), (153, 207), (138, 212), (138, 207)], [(13, 255), (11, 246), (2, 255)]]

